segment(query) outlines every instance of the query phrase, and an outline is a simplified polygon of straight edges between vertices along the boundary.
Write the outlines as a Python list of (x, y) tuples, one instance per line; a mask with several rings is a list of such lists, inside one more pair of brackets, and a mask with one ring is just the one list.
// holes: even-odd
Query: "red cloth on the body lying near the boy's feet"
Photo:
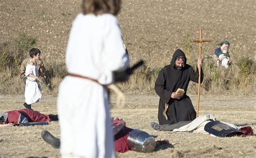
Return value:
[(32, 111), (31, 109), (19, 109), (14, 111), (9, 111), (8, 113), (8, 121), (9, 123), (18, 123), (19, 114), (21, 112), (25, 112), (31, 122), (49, 122), (51, 119), (49, 118), (49, 115), (41, 114), (38, 111)]

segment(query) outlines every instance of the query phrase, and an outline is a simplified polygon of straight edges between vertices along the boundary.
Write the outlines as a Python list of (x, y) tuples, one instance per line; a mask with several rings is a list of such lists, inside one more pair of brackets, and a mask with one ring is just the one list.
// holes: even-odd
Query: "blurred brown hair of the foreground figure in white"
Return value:
[(83, 0), (82, 12), (84, 15), (93, 13), (101, 15), (103, 13), (111, 13), (117, 15), (121, 9), (121, 0)]

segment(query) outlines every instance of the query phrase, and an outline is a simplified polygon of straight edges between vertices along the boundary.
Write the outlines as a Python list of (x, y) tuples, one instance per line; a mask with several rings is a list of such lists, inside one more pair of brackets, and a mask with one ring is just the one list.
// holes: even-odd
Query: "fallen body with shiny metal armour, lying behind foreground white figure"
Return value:
[[(150, 153), (161, 145), (170, 145), (167, 140), (160, 139), (155, 141), (153, 136), (142, 130), (126, 127), (122, 119), (112, 118), (112, 129), (114, 148), (119, 153), (125, 153), (128, 150)], [(60, 148), (60, 140), (48, 132), (48, 130), (43, 130), (41, 135), (43, 140), (53, 148)]]

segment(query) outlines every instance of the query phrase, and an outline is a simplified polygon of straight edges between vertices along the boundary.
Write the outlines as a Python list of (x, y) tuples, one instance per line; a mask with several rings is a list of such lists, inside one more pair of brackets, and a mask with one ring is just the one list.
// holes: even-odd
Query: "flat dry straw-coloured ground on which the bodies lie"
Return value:
[[(208, 134), (158, 132), (150, 127), (150, 122), (157, 122), (157, 95), (126, 95), (126, 105), (120, 108), (116, 99), (111, 97), (111, 115), (126, 121), (126, 126), (138, 128), (153, 135), (156, 139), (165, 138), (173, 146), (163, 146), (153, 153), (126, 152), (117, 157), (254, 157), (256, 155), (256, 137), (217, 138)], [(56, 114), (56, 97), (45, 96), (32, 108), (44, 114)], [(196, 96), (191, 96), (196, 105)], [(199, 114), (212, 114), (217, 120), (231, 122), (237, 126), (251, 126), (256, 129), (255, 96), (223, 97), (201, 96)], [(0, 112), (23, 108), (23, 95), (0, 95)], [(41, 138), (41, 131), (49, 130), (59, 138), (58, 122), (50, 125), (33, 127), (5, 127), (0, 133), (0, 156), (60, 157), (59, 149), (53, 149)]]

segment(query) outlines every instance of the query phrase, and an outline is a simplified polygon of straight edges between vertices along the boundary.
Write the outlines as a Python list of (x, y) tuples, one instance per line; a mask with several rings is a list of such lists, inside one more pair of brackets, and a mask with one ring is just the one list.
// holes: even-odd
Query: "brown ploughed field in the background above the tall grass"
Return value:
[[(0, 0), (0, 41), (6, 42), (18, 33), (38, 37), (41, 58), (63, 61), (69, 30), (80, 12), (80, 0)], [(256, 53), (256, 2), (254, 0), (203, 1), (126, 0), (118, 15), (124, 42), (131, 61), (144, 59), (149, 66), (169, 63), (177, 48), (184, 49), (184, 38), (199, 37), (212, 43), (203, 45), (203, 57), (213, 55), (216, 43), (231, 43), (231, 58)], [(197, 56), (198, 45), (192, 44)]]

